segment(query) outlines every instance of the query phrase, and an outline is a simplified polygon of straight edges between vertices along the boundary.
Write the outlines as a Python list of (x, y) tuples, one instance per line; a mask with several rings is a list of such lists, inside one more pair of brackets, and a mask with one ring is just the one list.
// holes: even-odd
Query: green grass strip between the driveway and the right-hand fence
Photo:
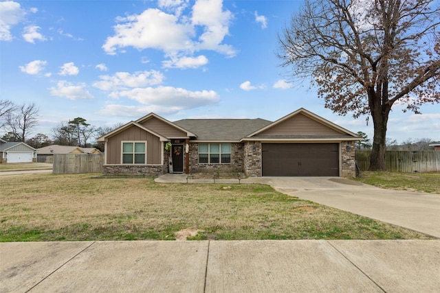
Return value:
[(386, 189), (440, 194), (440, 173), (362, 172), (356, 180)]

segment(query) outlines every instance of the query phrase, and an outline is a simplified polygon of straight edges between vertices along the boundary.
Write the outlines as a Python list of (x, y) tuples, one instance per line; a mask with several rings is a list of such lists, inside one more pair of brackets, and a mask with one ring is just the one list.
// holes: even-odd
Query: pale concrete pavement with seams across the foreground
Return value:
[(10, 242), (1, 292), (438, 292), (440, 240)]

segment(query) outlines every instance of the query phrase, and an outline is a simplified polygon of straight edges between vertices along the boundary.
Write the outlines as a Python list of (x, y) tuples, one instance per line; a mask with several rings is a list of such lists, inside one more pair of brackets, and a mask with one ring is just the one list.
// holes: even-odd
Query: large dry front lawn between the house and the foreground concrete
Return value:
[[(359, 215), (259, 184), (164, 184), (89, 175), (0, 177), (0, 241), (420, 239)], [(186, 230), (188, 231), (188, 230)]]

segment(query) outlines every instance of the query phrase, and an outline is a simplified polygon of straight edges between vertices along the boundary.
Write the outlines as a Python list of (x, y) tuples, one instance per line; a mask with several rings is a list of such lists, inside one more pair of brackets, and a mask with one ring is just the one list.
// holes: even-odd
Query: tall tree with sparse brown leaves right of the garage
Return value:
[(439, 28), (436, 0), (306, 0), (278, 36), (278, 56), (326, 108), (371, 115), (370, 170), (384, 170), (391, 107), (440, 102)]

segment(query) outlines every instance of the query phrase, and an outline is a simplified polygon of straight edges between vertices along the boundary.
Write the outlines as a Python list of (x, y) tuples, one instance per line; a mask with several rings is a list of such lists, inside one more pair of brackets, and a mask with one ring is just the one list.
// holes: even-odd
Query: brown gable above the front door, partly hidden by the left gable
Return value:
[(155, 113), (150, 113), (136, 122), (151, 129), (157, 133), (162, 134), (164, 137), (168, 138), (186, 138), (186, 137), (196, 137), (197, 135), (170, 122)]

